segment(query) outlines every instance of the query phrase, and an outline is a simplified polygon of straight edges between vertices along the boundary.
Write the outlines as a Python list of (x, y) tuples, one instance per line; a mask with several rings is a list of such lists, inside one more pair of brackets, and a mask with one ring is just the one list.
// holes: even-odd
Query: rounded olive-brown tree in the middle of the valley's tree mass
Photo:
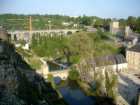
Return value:
[(70, 50), (72, 52), (72, 57), (79, 58), (79, 60), (92, 56), (92, 46), (93, 42), (87, 33), (76, 33), (70, 37)]

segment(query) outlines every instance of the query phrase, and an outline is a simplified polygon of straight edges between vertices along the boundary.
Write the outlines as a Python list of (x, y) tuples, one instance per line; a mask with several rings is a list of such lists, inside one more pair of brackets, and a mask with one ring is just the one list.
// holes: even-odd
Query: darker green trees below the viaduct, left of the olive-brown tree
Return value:
[[(63, 56), (67, 46), (67, 38), (63, 36), (40, 36), (34, 35), (31, 43), (32, 50), (41, 57), (60, 57)], [(67, 54), (66, 54), (67, 55)]]

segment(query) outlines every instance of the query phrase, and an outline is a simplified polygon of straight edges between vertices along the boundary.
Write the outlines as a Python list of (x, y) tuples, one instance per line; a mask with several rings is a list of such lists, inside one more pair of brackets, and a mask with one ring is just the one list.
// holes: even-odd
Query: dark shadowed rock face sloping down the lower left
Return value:
[(56, 105), (57, 101), (64, 105), (50, 83), (22, 59), (14, 46), (0, 41), (0, 105)]

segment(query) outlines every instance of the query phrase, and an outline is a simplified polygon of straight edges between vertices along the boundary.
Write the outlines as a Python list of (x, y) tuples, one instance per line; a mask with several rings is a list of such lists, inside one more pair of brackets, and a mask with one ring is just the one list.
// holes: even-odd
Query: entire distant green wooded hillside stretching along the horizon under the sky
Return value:
[[(1, 14), (0, 25), (5, 26), (8, 30), (29, 30), (29, 16), (32, 16), (32, 26), (34, 30), (49, 29), (50, 27), (51, 29), (75, 28), (74, 24), (78, 25), (76, 28), (81, 28), (83, 25), (86, 25), (98, 28), (104, 27), (108, 30), (110, 22), (114, 20), (111, 18), (103, 19), (96, 16), (79, 16), (75, 18), (62, 15)], [(133, 31), (140, 33), (140, 17), (129, 16), (127, 19), (115, 20), (120, 22), (119, 25), (121, 28), (129, 25)]]

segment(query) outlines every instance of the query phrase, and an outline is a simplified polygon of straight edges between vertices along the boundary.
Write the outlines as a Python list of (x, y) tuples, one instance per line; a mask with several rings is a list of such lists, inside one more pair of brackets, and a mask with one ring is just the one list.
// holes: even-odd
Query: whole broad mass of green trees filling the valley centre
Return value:
[(41, 57), (62, 58), (67, 63), (78, 63), (82, 59), (117, 53), (110, 41), (109, 33), (79, 32), (70, 36), (34, 35), (31, 49)]

